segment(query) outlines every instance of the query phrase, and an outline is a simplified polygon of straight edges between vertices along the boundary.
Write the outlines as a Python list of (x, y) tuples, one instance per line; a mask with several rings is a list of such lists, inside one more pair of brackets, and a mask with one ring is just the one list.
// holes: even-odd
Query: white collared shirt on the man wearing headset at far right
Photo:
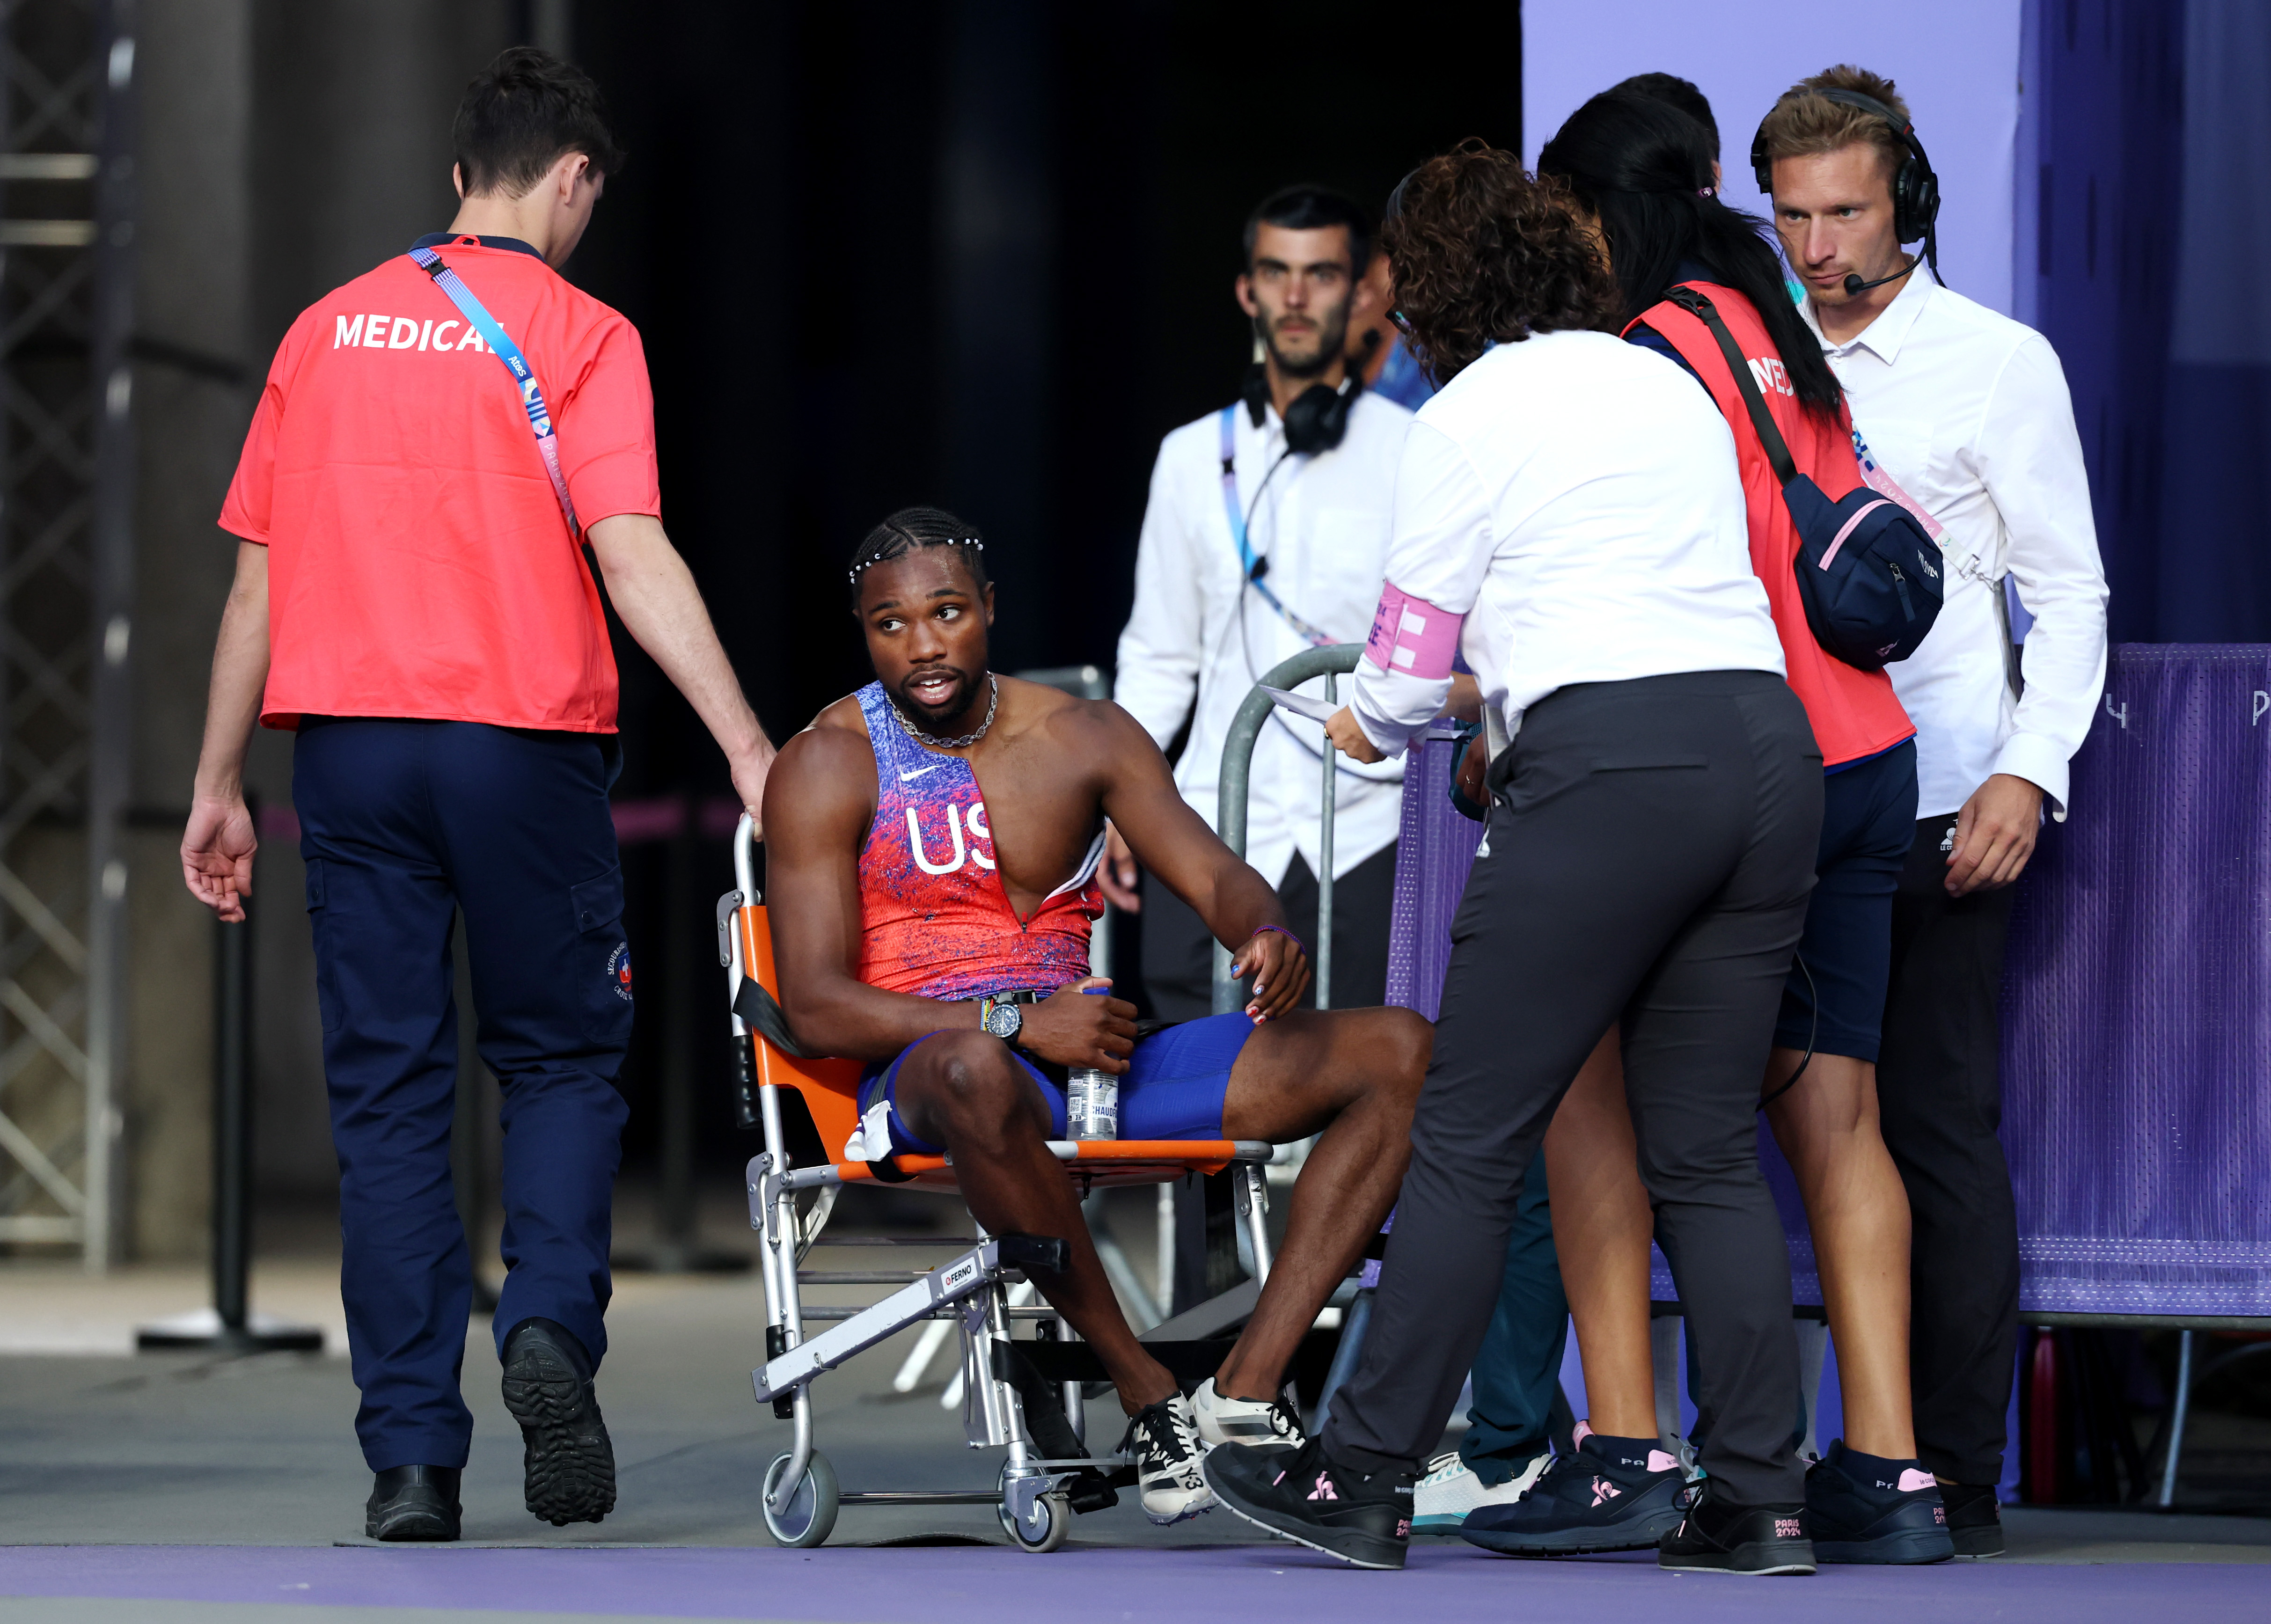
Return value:
[[(1819, 338), (1810, 300), (1803, 316)], [(2064, 818), (2067, 761), (2105, 688), (2105, 568), (2058, 354), (1921, 270), (1855, 338), (1821, 348), (1869, 454), (1946, 531), (1939, 620), (1889, 668), (1917, 725), (1917, 815), (1953, 813), (2010, 772)], [(2019, 700), (1996, 604), (2005, 572), (2035, 616)]]

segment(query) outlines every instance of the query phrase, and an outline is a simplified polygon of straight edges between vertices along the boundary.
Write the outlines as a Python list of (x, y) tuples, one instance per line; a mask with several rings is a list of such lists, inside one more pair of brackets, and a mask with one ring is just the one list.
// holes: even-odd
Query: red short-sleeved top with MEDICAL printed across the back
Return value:
[[(536, 368), (584, 525), (661, 516), (638, 329), (536, 254), (438, 252)], [(284, 334), (220, 527), (268, 547), (268, 727), (615, 731), (600, 591), (520, 391), (407, 254)]]

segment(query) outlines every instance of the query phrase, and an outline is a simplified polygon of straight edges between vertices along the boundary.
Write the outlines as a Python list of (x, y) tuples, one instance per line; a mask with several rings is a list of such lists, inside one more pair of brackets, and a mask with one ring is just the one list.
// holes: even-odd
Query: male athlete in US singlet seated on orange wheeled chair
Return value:
[[(1397, 1197), (1433, 1029), (1406, 1008), (1297, 1008), (1308, 956), (1276, 893), (1183, 804), (1149, 734), (988, 672), (974, 529), (893, 513), (852, 559), (852, 597), (879, 681), (824, 709), (765, 781), (781, 1006), (804, 1049), (868, 1061), (865, 1156), (947, 1149), (988, 1231), (1070, 1242), (1070, 1267), (1033, 1283), (1120, 1388), (1145, 1515), (1179, 1522), (1215, 1504), (1201, 1449), (1301, 1442), (1285, 1361)], [(1088, 974), (1106, 818), (1254, 979), (1242, 1013), (1138, 1040), (1136, 1006)], [(1195, 1397), (1120, 1315), (1045, 1145), (1065, 1138), (1067, 1065), (1120, 1074), (1126, 1138), (1324, 1133), (1254, 1317)]]

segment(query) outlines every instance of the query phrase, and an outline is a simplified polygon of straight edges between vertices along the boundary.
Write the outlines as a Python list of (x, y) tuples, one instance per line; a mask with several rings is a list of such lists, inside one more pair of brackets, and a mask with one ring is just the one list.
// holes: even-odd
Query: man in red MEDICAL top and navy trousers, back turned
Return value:
[(379, 1540), (459, 1535), (472, 1438), (472, 1272), (450, 1190), (459, 911), (504, 1090), (495, 1336), (527, 1506), (565, 1524), (615, 1504), (593, 1372), (634, 981), (606, 804), (615, 661), (586, 545), (752, 815), (772, 761), (663, 534), (638, 332), (559, 275), (622, 166), (597, 86), (506, 50), (468, 86), (454, 145), (450, 229), (309, 307), (268, 370), (220, 513), (236, 584), (182, 838), (191, 893), (243, 918), (245, 743), (254, 720), (298, 729)]

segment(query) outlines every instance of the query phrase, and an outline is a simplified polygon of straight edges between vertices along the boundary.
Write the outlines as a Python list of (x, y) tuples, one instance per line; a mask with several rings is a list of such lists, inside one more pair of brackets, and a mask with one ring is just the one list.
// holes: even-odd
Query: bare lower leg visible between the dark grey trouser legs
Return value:
[(1656, 1215), (1640, 1181), (1617, 1029), (1601, 1038), (1553, 1113), (1547, 1188), (1553, 1190), (1553, 1252), (1585, 1365), (1592, 1410), (1585, 1420), (1610, 1438), (1653, 1438), (1649, 1238)]

